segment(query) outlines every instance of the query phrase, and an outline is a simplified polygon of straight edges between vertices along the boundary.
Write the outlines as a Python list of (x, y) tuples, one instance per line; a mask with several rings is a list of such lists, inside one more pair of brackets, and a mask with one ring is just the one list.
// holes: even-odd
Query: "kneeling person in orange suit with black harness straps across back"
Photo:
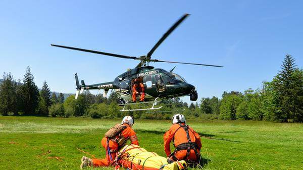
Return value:
[[(170, 142), (172, 140), (176, 148), (173, 153), (170, 150)], [(168, 161), (191, 160), (198, 162), (201, 146), (199, 134), (186, 125), (184, 115), (174, 115), (173, 125), (164, 134), (164, 150)]]

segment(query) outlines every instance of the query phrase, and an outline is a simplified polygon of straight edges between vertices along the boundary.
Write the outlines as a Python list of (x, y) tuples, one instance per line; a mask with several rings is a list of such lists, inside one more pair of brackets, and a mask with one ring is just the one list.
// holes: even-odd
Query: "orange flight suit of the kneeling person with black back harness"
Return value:
[[(180, 125), (185, 124), (174, 124), (170, 129), (164, 134), (164, 150), (167, 156), (171, 154), (170, 142), (174, 139), (174, 146), (177, 147), (180, 144), (188, 143), (186, 131), (180, 127)], [(201, 149), (201, 139), (198, 133), (196, 133), (192, 128), (188, 127), (188, 134), (192, 143), (197, 145), (196, 152), (193, 149), (190, 149), (188, 157), (186, 157), (187, 150), (179, 150), (174, 153), (174, 156), (171, 158), (177, 160), (193, 160), (197, 161), (196, 153), (200, 152)]]

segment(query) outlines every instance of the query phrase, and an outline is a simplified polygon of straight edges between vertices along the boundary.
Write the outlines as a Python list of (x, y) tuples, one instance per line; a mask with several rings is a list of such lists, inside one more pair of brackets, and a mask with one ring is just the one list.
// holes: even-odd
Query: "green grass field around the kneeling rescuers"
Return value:
[[(78, 149), (104, 157), (100, 139), (120, 121), (0, 117), (0, 169), (79, 169), (81, 156), (89, 155)], [(187, 122), (203, 136), (201, 154), (208, 160), (204, 169), (303, 169), (302, 124)], [(141, 147), (165, 156), (163, 134), (170, 125), (136, 120), (133, 128)]]

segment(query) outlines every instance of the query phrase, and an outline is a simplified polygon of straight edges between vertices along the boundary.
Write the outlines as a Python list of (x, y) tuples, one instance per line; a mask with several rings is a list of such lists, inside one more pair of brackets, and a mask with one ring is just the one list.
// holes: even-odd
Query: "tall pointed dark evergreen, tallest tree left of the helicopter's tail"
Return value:
[(31, 74), (29, 67), (23, 78), (22, 97), (24, 98), (24, 114), (34, 114), (38, 106), (39, 90), (35, 85), (34, 76)]

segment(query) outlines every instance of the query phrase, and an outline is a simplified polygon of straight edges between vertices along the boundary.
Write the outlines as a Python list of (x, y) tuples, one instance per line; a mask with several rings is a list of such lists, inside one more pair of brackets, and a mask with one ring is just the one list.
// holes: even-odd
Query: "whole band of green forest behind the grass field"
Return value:
[[(85, 91), (78, 99), (67, 98), (63, 93), (52, 93), (46, 81), (41, 90), (27, 67), (23, 82), (16, 81), (11, 73), (3, 74), (0, 85), (0, 114), (2, 116), (51, 116), (114, 118), (133, 115), (141, 119), (171, 119), (172, 112), (188, 118), (206, 120), (255, 120), (276, 122), (303, 122), (303, 70), (295, 65), (294, 58), (286, 54), (281, 70), (262, 87), (244, 91), (226, 92), (222, 98), (201, 98), (196, 104), (186, 103), (176, 97), (165, 99), (162, 112), (120, 112), (119, 97), (112, 91), (109, 97)], [(129, 107), (129, 106), (128, 106)], [(132, 108), (139, 108), (138, 105)]]

